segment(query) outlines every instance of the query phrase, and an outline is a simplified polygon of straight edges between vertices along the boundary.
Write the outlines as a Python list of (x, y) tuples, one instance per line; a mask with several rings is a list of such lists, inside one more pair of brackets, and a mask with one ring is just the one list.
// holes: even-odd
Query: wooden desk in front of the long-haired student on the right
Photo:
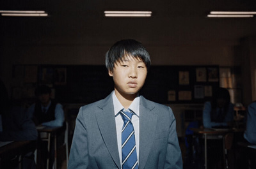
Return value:
[(207, 140), (212, 139), (212, 136), (214, 136), (215, 139), (222, 139), (223, 140), (223, 160), (224, 160), (224, 166), (223, 168), (226, 168), (227, 163), (225, 160), (225, 135), (227, 133), (232, 133), (233, 129), (200, 129), (200, 128), (189, 128), (191, 131), (194, 131), (195, 135), (200, 135), (202, 138), (204, 138), (204, 161), (205, 161), (205, 169), (207, 169)]

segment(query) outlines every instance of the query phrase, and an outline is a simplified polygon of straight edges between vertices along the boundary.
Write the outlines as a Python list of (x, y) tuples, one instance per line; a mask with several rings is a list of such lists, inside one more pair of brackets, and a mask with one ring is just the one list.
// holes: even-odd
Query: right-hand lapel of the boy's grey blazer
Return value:
[(147, 104), (147, 100), (140, 97), (140, 168), (147, 163), (148, 154), (154, 142), (157, 115), (150, 112), (154, 107)]

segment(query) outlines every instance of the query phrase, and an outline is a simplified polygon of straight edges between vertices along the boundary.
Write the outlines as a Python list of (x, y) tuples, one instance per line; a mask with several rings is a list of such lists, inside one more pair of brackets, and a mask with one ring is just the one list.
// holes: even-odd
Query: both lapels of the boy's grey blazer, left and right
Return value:
[[(96, 114), (96, 119), (99, 125), (102, 138), (106, 143), (109, 154), (115, 161), (116, 166), (121, 168), (120, 159), (118, 155), (118, 145), (116, 137), (115, 114), (112, 94), (109, 94), (100, 105), (100, 111)], [(140, 168), (144, 168), (147, 163), (150, 147), (154, 142), (154, 135), (156, 131), (157, 115), (151, 111), (155, 107), (149, 103), (147, 99), (140, 96)], [(106, 128), (108, 126), (108, 128)]]

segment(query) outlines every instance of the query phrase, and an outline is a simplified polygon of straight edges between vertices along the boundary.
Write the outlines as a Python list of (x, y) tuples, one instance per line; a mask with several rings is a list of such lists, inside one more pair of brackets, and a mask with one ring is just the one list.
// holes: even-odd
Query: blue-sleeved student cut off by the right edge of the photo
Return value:
[(249, 143), (256, 145), (256, 101), (248, 105), (246, 110), (246, 130), (244, 138)]

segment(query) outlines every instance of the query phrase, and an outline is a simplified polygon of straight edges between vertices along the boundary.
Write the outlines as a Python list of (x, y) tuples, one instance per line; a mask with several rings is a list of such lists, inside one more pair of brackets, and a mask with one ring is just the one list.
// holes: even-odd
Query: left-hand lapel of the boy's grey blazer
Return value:
[(117, 136), (116, 136), (116, 125), (112, 94), (105, 99), (103, 105), (99, 105), (100, 111), (96, 114), (96, 119), (102, 134), (102, 138), (106, 147), (108, 148), (109, 154), (111, 154), (113, 161), (116, 166), (121, 168), (120, 159), (118, 153)]

